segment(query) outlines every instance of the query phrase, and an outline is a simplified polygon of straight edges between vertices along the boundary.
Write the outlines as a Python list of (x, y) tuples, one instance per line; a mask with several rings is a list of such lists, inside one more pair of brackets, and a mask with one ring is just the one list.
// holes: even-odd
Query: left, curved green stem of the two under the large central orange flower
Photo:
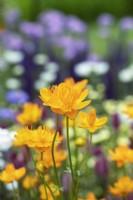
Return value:
[[(53, 142), (52, 142), (52, 160), (53, 160), (53, 164), (54, 164), (54, 173), (55, 173), (55, 178), (56, 178), (56, 184), (58, 185), (58, 188), (60, 188), (60, 181), (58, 178), (58, 174), (57, 174), (57, 168), (56, 168), (56, 162), (55, 162), (55, 157), (54, 157), (54, 145), (55, 145), (55, 140), (56, 140), (56, 136), (58, 133), (58, 114), (56, 115), (56, 130), (55, 130), (55, 134), (54, 134), (54, 138), (53, 138)], [(62, 199), (62, 193), (61, 190), (60, 191), (60, 198)]]

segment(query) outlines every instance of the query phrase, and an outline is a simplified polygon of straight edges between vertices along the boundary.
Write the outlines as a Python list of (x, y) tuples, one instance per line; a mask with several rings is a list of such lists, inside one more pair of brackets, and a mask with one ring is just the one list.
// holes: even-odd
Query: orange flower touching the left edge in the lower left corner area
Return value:
[(24, 167), (15, 169), (12, 163), (6, 165), (5, 169), (0, 173), (0, 181), (4, 183), (11, 183), (21, 179), (26, 173)]

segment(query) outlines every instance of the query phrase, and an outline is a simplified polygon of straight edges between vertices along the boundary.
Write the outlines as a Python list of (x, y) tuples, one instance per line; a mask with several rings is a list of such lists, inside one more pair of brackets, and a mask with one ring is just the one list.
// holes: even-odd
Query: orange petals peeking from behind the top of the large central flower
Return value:
[(66, 78), (64, 82), (67, 83), (70, 87), (76, 85), (79, 88), (79, 90), (83, 90), (85, 86), (87, 85), (88, 80), (84, 79), (82, 81), (75, 82), (73, 78), (69, 77), (69, 78)]

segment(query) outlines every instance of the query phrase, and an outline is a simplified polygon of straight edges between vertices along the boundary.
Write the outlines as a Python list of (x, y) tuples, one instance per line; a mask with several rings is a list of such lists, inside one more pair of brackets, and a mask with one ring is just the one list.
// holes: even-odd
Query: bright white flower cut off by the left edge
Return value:
[(15, 131), (8, 131), (8, 129), (0, 128), (0, 151), (7, 151), (12, 147)]

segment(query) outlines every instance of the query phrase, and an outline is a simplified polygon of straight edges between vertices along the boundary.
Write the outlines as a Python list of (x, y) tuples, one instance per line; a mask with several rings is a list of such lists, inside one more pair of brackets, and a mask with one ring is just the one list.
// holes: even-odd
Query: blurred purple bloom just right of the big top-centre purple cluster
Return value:
[(68, 16), (66, 19), (66, 29), (72, 32), (84, 33), (87, 31), (86, 24), (75, 16)]

